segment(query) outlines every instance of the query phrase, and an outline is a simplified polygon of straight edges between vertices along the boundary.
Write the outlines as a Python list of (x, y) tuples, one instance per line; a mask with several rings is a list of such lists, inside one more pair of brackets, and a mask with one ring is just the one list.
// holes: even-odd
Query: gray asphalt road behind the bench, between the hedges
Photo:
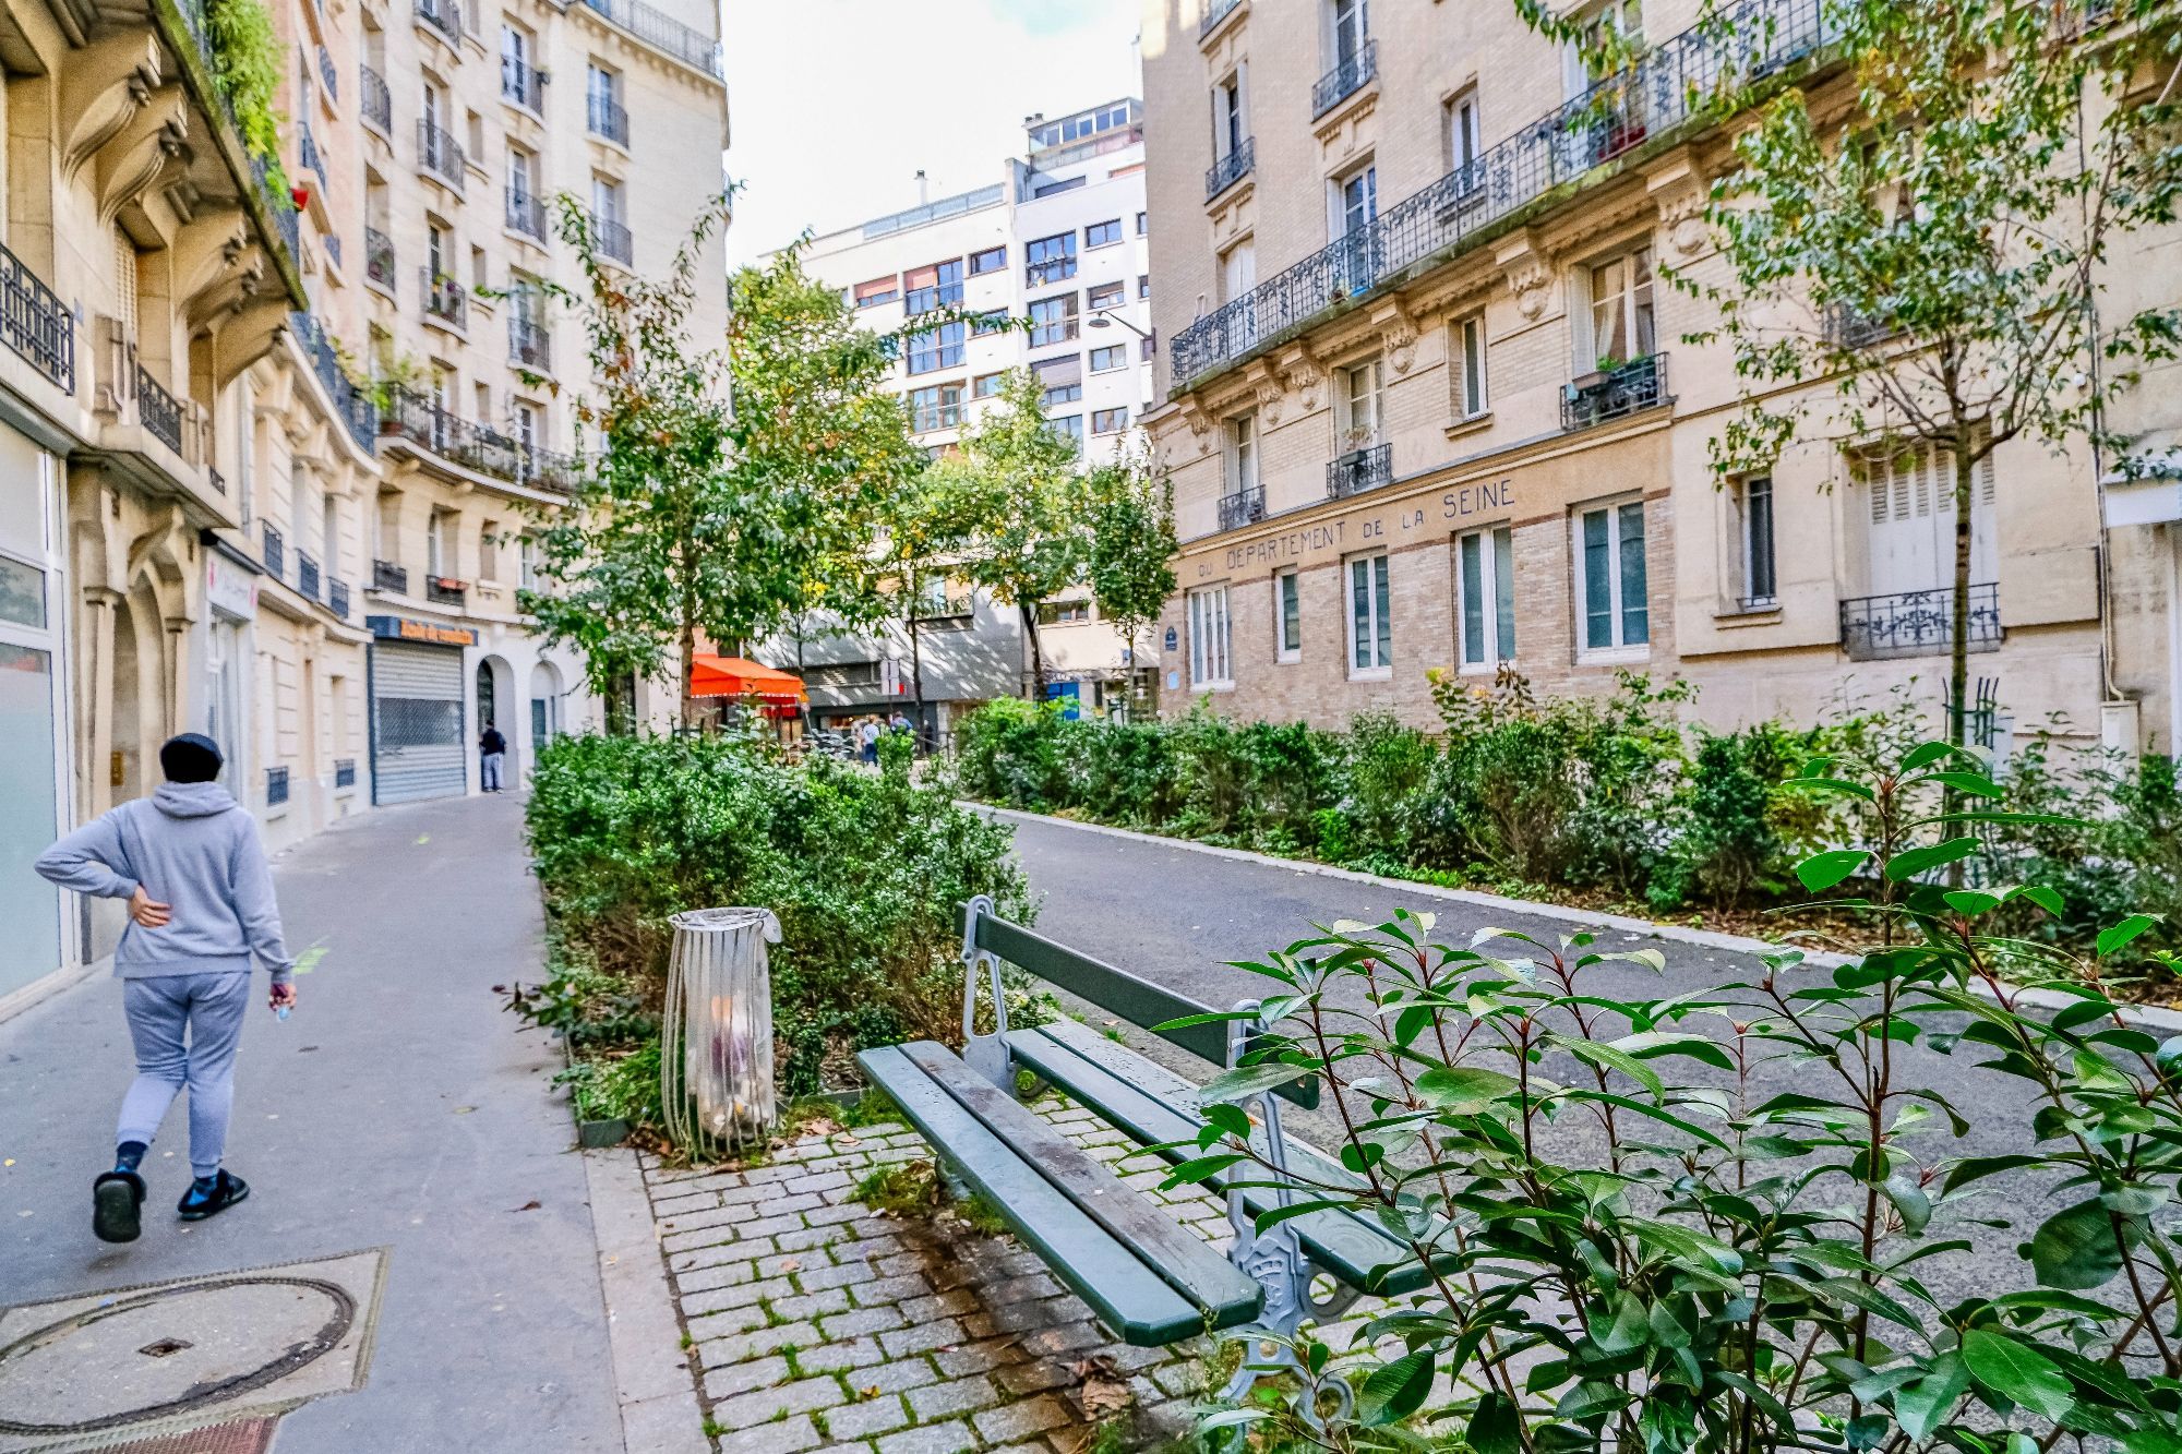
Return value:
[[(1222, 1009), (1268, 993), (1268, 980), (1235, 969), (1226, 961), (1259, 958), (1268, 950), (1285, 948), (1309, 937), (1314, 923), (1329, 926), (1335, 919), (1379, 923), (1392, 917), (1396, 906), (1403, 906), (1436, 915), (1434, 937), (1447, 943), (1466, 943), (1477, 928), (1512, 928), (1554, 943), (1578, 928), (1558, 919), (1488, 913), (1405, 891), (1399, 884), (1329, 878), (1180, 845), (1119, 838), (1060, 821), (1015, 819), (1015, 843), (1030, 884), (1041, 897), (1039, 932)], [(1665, 998), (1719, 989), (1752, 980), (1763, 972), (1763, 965), (1746, 954), (1645, 934), (1604, 932), (1595, 948), (1645, 945), (1665, 954), (1663, 976), (1636, 967), (1602, 965), (1597, 978), (1586, 980), (1591, 991)], [(1800, 972), (1800, 978), (1802, 982), (1822, 982), (1831, 976)], [(1119, 1026), (1091, 1006), (1076, 1004), (1071, 1009), (1084, 1013), (1095, 1026), (1122, 1030), (1130, 1046), (1185, 1074), (1200, 1078), (1209, 1074), (1202, 1061), (1150, 1035)], [(1691, 1022), (1691, 1028), (1698, 1024)], [(1482, 1063), (1506, 1070), (1503, 1061)], [(2027, 1096), (2016, 1081), (1977, 1070), (1968, 1054), (1944, 1057), (1925, 1048), (1907, 1050), (1898, 1063), (1903, 1087), (1935, 1089), (1970, 1120), (1970, 1133), (1962, 1140), (1951, 1135), (1944, 1120), (1929, 1122), (1918, 1142), (1922, 1157), (1999, 1155), (2021, 1151), (2031, 1140)], [(1551, 1068), (1547, 1072), (1551, 1074)], [(1669, 1078), (1695, 1078), (1698, 1072), (1689, 1061), (1674, 1061), (1667, 1074)], [(1757, 1098), (1787, 1089), (1831, 1094), (1833, 1087), (1824, 1085), (1829, 1074), (1822, 1065), (1765, 1065), (1754, 1074)], [(1324, 1116), (1296, 1116), (1292, 1124), (1322, 1146), (1333, 1142), (1335, 1127)], [(1586, 1118), (1564, 1118), (1549, 1135), (1551, 1155), (1564, 1164), (1595, 1166), (1604, 1159), (1604, 1133)], [(2003, 1279), (2005, 1286), (2029, 1286), (2029, 1264), (2014, 1255), (2014, 1247), (2062, 1205), (2051, 1203), (2042, 1185), (2023, 1179), (1992, 1177), (1981, 1185), (1988, 1190), (1964, 1209), (1977, 1218), (2003, 1218), (2010, 1227), (1962, 1223), (1959, 1236), (1973, 1240), (1977, 1251), (1935, 1258), (1925, 1273), (1942, 1303), (1970, 1290), (2001, 1290), (1994, 1279)], [(1835, 1181), (1833, 1188), (1833, 1196), (1850, 1199), (1846, 1183)], [(1935, 1231), (1946, 1227), (1944, 1218), (1946, 1212), (1933, 1220)]]

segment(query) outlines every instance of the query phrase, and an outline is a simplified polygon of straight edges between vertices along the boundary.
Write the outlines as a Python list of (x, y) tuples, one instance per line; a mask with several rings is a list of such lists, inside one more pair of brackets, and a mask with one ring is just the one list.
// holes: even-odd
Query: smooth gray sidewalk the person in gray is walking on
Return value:
[(290, 948), (325, 954), (295, 1017), (260, 1000), (242, 1037), (227, 1164), (251, 1199), (175, 1220), (177, 1100), (144, 1238), (92, 1238), (131, 1057), (120, 987), (85, 980), (0, 1024), (0, 1303), (386, 1249), (362, 1389), (286, 1415), (279, 1454), (620, 1452), (587, 1168), (546, 1081), (559, 1052), (493, 993), (539, 976), (517, 799), (380, 810), (275, 871)]

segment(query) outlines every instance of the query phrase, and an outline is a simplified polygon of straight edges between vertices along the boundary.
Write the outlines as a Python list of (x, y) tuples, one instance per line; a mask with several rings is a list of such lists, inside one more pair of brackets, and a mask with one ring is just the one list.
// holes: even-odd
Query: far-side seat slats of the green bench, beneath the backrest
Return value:
[[(1198, 1116), (1196, 1085), (1074, 1020), (1015, 1030), (1008, 1035), (1008, 1046), (1030, 1070), (1089, 1105), (1102, 1120), (1128, 1131), (1139, 1144), (1191, 1140), (1204, 1127), (1204, 1118)], [(1257, 1142), (1263, 1151), (1263, 1131), (1259, 1131)], [(1174, 1148), (1161, 1155), (1170, 1161), (1185, 1161), (1191, 1153)], [(1287, 1137), (1287, 1164), (1298, 1177), (1311, 1181), (1359, 1183), (1344, 1166), (1296, 1137)], [(1248, 1172), (1246, 1179), (1263, 1179), (1259, 1168), (1242, 1170)], [(1204, 1185), (1224, 1190), (1226, 1175), (1213, 1177)], [(1250, 1212), (1263, 1212), (1274, 1205), (1274, 1194), (1266, 1188), (1244, 1188), (1244, 1205)], [(1353, 1288), (1392, 1297), (1429, 1282), (1410, 1249), (1364, 1216), (1333, 1209), (1309, 1212), (1287, 1225), (1296, 1229), (1314, 1262)]]

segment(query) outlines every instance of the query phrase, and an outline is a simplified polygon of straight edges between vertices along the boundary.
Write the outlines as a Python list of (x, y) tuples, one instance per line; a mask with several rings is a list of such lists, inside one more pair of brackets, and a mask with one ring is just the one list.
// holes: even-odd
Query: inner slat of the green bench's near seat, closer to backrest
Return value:
[(1006, 1142), (1008, 1151), (1030, 1161), (1084, 1216), (1135, 1251), (1167, 1286), (1202, 1308), (1213, 1327), (1257, 1316), (1266, 1290), (1215, 1253), (1204, 1238), (1180, 1227), (1115, 1177), (1104, 1161), (1023, 1109), (1015, 1096), (964, 1065), (945, 1046), (919, 1041), (901, 1050), (910, 1063), (984, 1122), (986, 1131)]

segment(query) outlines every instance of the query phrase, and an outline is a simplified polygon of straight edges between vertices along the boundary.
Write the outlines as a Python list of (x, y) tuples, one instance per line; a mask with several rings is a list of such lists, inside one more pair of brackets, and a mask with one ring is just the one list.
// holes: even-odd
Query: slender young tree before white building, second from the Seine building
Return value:
[(1030, 637), (1030, 694), (1045, 696), (1039, 603), (1082, 576), (1087, 533), (1078, 448), (1045, 421), (1043, 393), (1012, 369), (999, 402), (934, 465), (945, 513), (962, 524), (960, 570), (1015, 607)]

